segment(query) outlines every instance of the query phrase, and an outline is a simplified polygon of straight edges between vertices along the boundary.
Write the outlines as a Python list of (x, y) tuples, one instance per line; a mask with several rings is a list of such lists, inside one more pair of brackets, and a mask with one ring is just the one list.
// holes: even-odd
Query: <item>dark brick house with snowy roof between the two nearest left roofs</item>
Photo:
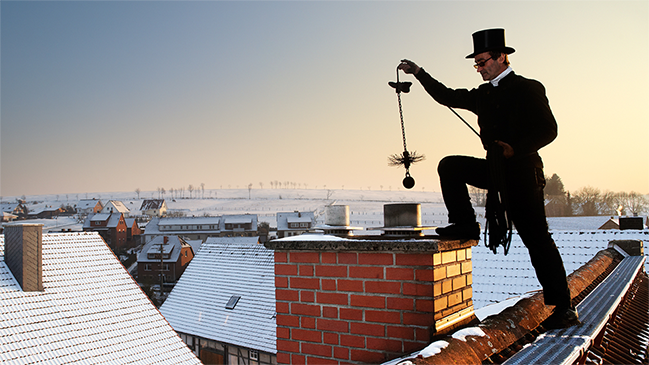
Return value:
[(160, 236), (142, 247), (137, 257), (138, 282), (175, 283), (194, 258), (194, 250), (182, 237)]

